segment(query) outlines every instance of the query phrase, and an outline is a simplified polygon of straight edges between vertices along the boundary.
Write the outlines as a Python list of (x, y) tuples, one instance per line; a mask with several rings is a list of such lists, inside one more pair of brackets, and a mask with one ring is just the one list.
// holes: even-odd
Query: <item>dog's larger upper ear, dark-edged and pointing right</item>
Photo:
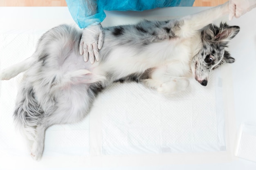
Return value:
[(220, 29), (216, 31), (215, 40), (229, 41), (240, 31), (239, 26), (229, 26), (227, 23), (220, 23)]

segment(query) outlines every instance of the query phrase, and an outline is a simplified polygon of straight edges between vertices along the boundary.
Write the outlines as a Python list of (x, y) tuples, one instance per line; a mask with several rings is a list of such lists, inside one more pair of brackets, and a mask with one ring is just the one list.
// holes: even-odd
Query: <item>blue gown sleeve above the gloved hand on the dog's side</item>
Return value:
[(72, 18), (80, 28), (96, 25), (106, 18), (98, 0), (66, 0)]

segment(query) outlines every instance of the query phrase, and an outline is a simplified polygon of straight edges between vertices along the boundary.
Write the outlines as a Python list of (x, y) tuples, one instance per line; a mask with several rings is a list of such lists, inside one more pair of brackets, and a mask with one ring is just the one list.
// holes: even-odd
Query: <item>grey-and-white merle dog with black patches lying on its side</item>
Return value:
[(79, 54), (81, 30), (64, 24), (47, 31), (31, 57), (0, 72), (2, 80), (25, 72), (14, 120), (33, 141), (31, 156), (42, 156), (47, 127), (83, 119), (113, 82), (138, 82), (164, 94), (184, 91), (191, 76), (207, 86), (211, 70), (235, 61), (226, 47), (239, 26), (211, 24), (229, 13), (228, 5), (176, 20), (104, 28), (94, 64)]

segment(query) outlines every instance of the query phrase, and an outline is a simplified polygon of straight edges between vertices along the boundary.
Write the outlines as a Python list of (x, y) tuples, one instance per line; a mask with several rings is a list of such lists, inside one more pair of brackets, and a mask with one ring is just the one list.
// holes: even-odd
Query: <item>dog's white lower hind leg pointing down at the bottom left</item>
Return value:
[(43, 154), (46, 128), (47, 127), (43, 125), (38, 125), (36, 127), (36, 135), (35, 135), (34, 143), (31, 148), (31, 157), (34, 160), (40, 159)]

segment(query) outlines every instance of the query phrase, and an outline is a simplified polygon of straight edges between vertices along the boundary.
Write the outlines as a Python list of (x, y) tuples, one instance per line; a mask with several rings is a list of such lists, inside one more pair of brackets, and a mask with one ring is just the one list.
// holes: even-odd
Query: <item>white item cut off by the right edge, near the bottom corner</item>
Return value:
[(241, 124), (238, 133), (236, 156), (256, 162), (256, 124)]

